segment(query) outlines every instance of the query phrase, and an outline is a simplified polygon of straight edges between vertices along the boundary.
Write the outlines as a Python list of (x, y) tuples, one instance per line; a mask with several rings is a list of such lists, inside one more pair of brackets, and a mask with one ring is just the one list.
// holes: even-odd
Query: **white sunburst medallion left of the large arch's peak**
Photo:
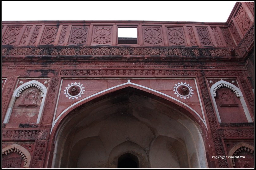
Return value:
[(80, 85), (80, 83), (71, 83), (70, 85), (68, 84), (67, 87), (65, 87), (66, 89), (64, 90), (65, 93), (64, 95), (66, 95), (66, 97), (68, 97), (69, 99), (74, 100), (75, 98), (78, 99), (78, 97), (82, 97), (81, 95), (83, 94), (83, 92), (85, 90), (83, 85)]

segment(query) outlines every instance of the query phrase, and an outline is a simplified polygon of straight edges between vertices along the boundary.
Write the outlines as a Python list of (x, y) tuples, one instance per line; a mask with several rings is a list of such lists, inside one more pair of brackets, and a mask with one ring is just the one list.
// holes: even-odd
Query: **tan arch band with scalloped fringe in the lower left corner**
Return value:
[(2, 155), (8, 155), (9, 153), (16, 152), (17, 154), (21, 155), (22, 159), (24, 160), (24, 168), (29, 168), (30, 161), (31, 161), (31, 155), (29, 151), (27, 151), (26, 148), (22, 147), (18, 144), (12, 144), (9, 146), (6, 146), (2, 149)]

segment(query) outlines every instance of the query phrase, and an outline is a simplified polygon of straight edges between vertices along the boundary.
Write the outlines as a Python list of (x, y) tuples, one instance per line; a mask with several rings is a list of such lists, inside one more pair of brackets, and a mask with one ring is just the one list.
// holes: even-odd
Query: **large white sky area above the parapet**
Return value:
[(2, 1), (2, 20), (226, 22), (233, 2)]

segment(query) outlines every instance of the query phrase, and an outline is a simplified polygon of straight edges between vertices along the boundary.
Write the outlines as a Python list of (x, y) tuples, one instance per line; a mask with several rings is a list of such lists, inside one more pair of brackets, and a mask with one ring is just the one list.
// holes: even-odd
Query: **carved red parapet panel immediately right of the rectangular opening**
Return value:
[(143, 27), (143, 40), (145, 45), (162, 45), (161, 27)]

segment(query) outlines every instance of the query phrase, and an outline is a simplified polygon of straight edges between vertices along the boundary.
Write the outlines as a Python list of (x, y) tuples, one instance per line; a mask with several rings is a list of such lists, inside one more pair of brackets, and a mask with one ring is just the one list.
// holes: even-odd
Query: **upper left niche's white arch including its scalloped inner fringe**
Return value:
[(11, 101), (9, 103), (9, 107), (7, 109), (5, 118), (3, 120), (3, 123), (8, 123), (9, 119), (11, 117), (11, 113), (12, 113), (12, 108), (14, 106), (15, 100), (16, 98), (20, 97), (21, 93), (31, 87), (35, 87), (40, 91), (41, 97), (42, 97), (42, 102), (40, 105), (40, 109), (39, 109), (39, 113), (38, 113), (38, 117), (37, 117), (37, 121), (36, 123), (40, 123), (41, 120), (41, 116), (42, 116), (42, 112), (43, 112), (43, 108), (44, 108), (44, 103), (45, 103), (45, 98), (46, 98), (46, 92), (47, 92), (47, 88), (45, 85), (43, 85), (42, 83), (40, 83), (39, 81), (36, 80), (31, 80), (29, 82), (26, 82), (22, 85), (20, 85), (19, 87), (17, 87), (13, 94), (12, 94), (12, 98)]

